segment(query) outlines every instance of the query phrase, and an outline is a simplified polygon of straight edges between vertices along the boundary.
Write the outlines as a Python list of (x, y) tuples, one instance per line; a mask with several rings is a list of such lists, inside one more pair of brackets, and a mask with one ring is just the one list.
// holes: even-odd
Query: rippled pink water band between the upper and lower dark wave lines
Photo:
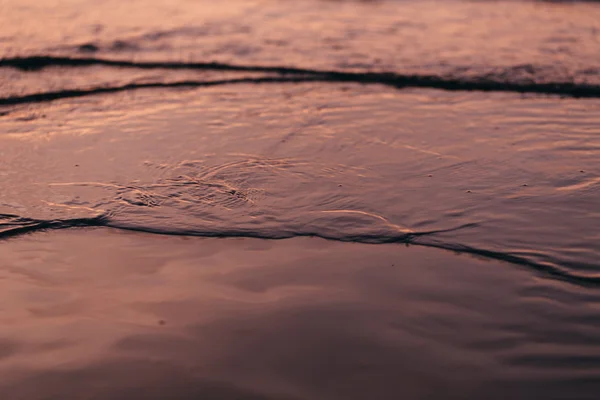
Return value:
[(410, 242), (595, 284), (599, 111), (597, 100), (307, 83), (19, 110), (1, 125), (3, 233), (60, 220)]

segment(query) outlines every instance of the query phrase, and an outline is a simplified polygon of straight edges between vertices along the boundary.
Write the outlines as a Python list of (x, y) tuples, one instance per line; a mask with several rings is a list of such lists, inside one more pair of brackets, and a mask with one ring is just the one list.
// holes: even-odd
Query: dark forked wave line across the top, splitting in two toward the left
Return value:
[[(162, 70), (202, 70), (221, 72), (248, 72), (270, 74), (262, 77), (244, 77), (212, 81), (183, 80), (176, 82), (128, 83), (118, 86), (101, 86), (86, 89), (65, 89), (26, 95), (0, 97), (0, 105), (39, 103), (57, 99), (114, 93), (144, 88), (208, 87), (230, 84), (266, 84), (299, 82), (347, 82), (379, 84), (396, 89), (428, 88), (447, 91), (513, 92), (521, 94), (546, 94), (574, 98), (600, 98), (600, 85), (576, 82), (535, 82), (531, 79), (507, 80), (506, 71), (500, 74), (484, 74), (468, 77), (439, 75), (410, 75), (393, 72), (349, 72), (318, 70), (283, 66), (234, 65), (216, 62), (141, 62), (110, 60), (102, 58), (76, 58), (55, 56), (29, 56), (0, 59), (0, 68), (16, 68), (21, 71), (39, 71), (49, 67), (80, 68), (103, 66), (109, 68), (137, 68)], [(522, 69), (522, 66), (513, 69)]]

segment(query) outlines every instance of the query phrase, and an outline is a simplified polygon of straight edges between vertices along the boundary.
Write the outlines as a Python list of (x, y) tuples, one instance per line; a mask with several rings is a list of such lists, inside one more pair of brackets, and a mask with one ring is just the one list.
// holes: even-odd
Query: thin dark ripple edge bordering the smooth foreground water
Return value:
[(135, 225), (121, 224), (113, 221), (108, 215), (101, 215), (94, 218), (75, 218), (65, 220), (35, 220), (22, 218), (14, 215), (0, 214), (0, 220), (8, 219), (9, 222), (0, 223), (0, 240), (14, 238), (21, 235), (31, 234), (35, 232), (68, 229), (68, 228), (93, 228), (105, 227), (119, 229), (125, 231), (151, 233), (168, 236), (195, 236), (206, 238), (254, 238), (265, 240), (283, 240), (295, 237), (318, 237), (325, 240), (363, 243), (363, 244), (405, 244), (407, 246), (422, 246), (448, 250), (458, 254), (469, 254), (486, 259), (493, 259), (507, 262), (510, 264), (519, 265), (529, 268), (539, 274), (545, 275), (548, 278), (561, 280), (573, 285), (582, 287), (598, 287), (600, 286), (600, 277), (581, 276), (568, 272), (559, 267), (535, 262), (525, 257), (514, 255), (506, 252), (480, 249), (462, 244), (439, 242), (434, 238), (437, 233), (451, 232), (468, 227), (469, 225), (429, 232), (414, 232), (405, 233), (394, 236), (381, 235), (349, 235), (334, 237), (323, 235), (318, 232), (280, 232), (280, 233), (261, 233), (251, 231), (194, 231), (194, 230), (167, 230), (151, 227), (140, 227)]

